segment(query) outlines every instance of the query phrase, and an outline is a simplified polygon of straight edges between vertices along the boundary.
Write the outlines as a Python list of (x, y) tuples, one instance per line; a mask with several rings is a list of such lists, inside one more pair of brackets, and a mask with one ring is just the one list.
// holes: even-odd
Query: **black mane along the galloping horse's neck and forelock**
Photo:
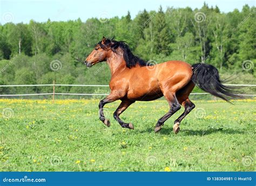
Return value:
[(150, 66), (151, 65), (150, 63), (146, 63), (146, 61), (144, 61), (143, 59), (140, 59), (138, 56), (135, 56), (131, 52), (129, 45), (124, 41), (118, 42), (118, 41), (114, 40), (114, 38), (112, 38), (112, 39), (107, 38), (105, 40), (104, 45), (102, 44), (102, 42), (99, 42), (98, 44), (103, 49), (105, 47), (110, 47), (114, 53), (118, 53), (117, 49), (120, 48), (123, 51), (123, 57), (124, 57), (126, 66), (128, 68), (132, 68), (132, 67), (136, 66), (136, 64), (139, 64), (139, 66)]

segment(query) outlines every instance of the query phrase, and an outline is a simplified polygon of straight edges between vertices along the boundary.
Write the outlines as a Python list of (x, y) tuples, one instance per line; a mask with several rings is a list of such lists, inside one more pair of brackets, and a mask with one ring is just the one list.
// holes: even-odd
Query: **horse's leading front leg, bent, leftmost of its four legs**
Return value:
[(110, 127), (110, 121), (107, 120), (103, 113), (103, 107), (105, 104), (108, 104), (110, 102), (116, 101), (120, 99), (118, 94), (109, 94), (106, 98), (99, 101), (99, 119), (102, 121), (107, 127)]

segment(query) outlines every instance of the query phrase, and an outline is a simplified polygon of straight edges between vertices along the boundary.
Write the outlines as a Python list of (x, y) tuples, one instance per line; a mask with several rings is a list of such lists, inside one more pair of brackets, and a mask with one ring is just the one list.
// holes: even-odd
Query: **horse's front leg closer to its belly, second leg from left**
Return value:
[(133, 104), (134, 101), (130, 101), (130, 100), (123, 100), (121, 102), (121, 104), (118, 106), (118, 108), (116, 109), (116, 111), (114, 112), (114, 119), (117, 120), (117, 122), (121, 125), (121, 127), (123, 128), (130, 128), (130, 129), (134, 129), (132, 123), (125, 123), (123, 122), (120, 118), (119, 115), (122, 114), (126, 108), (128, 108), (131, 104)]

